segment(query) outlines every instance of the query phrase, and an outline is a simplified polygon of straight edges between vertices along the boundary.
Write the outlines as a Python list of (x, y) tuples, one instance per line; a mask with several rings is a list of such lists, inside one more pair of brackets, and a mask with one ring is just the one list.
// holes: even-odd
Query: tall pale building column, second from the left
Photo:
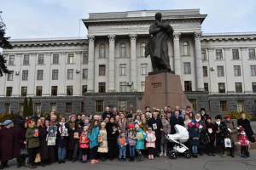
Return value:
[(114, 75), (114, 46), (115, 46), (115, 35), (108, 35), (109, 41), (109, 59), (108, 59), (108, 92), (115, 91), (115, 75)]

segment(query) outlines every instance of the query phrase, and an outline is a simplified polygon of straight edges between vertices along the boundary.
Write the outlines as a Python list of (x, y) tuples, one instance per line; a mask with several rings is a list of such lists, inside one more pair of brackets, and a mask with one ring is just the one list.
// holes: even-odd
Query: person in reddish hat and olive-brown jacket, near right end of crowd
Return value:
[(235, 143), (237, 140), (237, 127), (236, 123), (233, 122), (230, 115), (225, 116), (225, 123), (229, 131), (229, 139), (231, 140), (230, 156), (235, 157)]

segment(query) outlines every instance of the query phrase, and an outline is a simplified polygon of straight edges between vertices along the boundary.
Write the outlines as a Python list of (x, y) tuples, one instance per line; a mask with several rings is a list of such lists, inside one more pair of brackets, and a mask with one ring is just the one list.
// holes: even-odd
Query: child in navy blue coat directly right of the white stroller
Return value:
[(200, 143), (200, 129), (199, 129), (199, 123), (195, 120), (192, 120), (189, 122), (189, 145), (192, 147), (192, 156), (197, 158), (197, 146)]

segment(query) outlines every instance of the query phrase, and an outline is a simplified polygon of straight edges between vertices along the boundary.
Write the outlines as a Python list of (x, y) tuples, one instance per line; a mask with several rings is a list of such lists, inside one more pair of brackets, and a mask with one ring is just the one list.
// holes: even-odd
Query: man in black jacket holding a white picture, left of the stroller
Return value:
[(161, 141), (161, 131), (163, 131), (162, 121), (158, 116), (160, 114), (159, 110), (153, 112), (153, 117), (148, 120), (148, 127), (152, 127), (155, 134), (155, 156), (159, 156), (160, 153), (160, 141)]

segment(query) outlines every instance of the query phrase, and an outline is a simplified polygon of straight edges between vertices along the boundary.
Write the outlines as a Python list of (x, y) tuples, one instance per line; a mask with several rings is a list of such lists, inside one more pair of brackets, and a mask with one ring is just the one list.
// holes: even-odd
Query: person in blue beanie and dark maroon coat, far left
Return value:
[(15, 131), (12, 128), (12, 121), (3, 122), (0, 130), (0, 168), (9, 167), (8, 161), (14, 158)]

